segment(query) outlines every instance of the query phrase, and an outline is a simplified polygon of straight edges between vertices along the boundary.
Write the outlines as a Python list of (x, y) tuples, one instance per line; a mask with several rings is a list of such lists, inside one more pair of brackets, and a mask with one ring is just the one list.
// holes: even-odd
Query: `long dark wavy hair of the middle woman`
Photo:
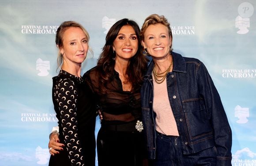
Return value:
[(102, 48), (102, 53), (99, 56), (97, 69), (99, 71), (99, 89), (106, 92), (107, 84), (113, 80), (114, 66), (116, 54), (113, 51), (113, 43), (117, 38), (118, 32), (124, 25), (130, 25), (134, 29), (138, 39), (138, 51), (130, 59), (126, 74), (128, 76), (128, 82), (132, 84), (132, 91), (141, 87), (143, 74), (147, 70), (147, 58), (143, 55), (142, 44), (139, 37), (140, 29), (139, 25), (127, 18), (121, 19), (116, 22), (106, 35), (106, 43)]

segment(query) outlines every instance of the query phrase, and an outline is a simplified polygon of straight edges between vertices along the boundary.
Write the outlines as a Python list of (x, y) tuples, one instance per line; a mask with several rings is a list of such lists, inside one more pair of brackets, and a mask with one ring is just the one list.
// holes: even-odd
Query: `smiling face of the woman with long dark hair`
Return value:
[(132, 26), (124, 25), (113, 42), (113, 51), (116, 51), (116, 60), (129, 60), (138, 51), (138, 37)]

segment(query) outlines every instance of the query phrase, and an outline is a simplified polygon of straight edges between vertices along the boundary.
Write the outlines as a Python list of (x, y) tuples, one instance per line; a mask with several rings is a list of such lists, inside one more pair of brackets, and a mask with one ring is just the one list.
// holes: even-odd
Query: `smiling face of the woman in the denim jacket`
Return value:
[(171, 43), (171, 36), (165, 25), (149, 25), (144, 32), (142, 44), (152, 58), (164, 58), (169, 55)]

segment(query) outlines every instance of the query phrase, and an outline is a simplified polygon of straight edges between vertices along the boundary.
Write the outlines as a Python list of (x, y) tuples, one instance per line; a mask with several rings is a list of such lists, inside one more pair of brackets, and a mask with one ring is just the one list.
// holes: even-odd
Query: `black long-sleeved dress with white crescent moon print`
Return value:
[(64, 70), (53, 77), (53, 105), (59, 120), (60, 154), (51, 155), (49, 166), (95, 166), (96, 109), (92, 92), (83, 78)]

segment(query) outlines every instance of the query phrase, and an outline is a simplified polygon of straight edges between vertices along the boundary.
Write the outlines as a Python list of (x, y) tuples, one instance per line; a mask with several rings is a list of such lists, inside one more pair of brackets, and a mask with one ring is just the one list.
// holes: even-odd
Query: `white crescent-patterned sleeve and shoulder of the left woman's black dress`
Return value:
[[(65, 77), (62, 77), (64, 76)], [(54, 77), (55, 78), (55, 77)], [(59, 76), (56, 76), (53, 85), (53, 103), (54, 108), (57, 108), (56, 114), (60, 128), (62, 128), (62, 134), (64, 136), (64, 142), (68, 151), (68, 158), (72, 162), (72, 165), (84, 166), (85, 161), (82, 155), (81, 141), (77, 134), (77, 101), (79, 89), (78, 84), (83, 83), (83, 78), (73, 76), (64, 70), (60, 71)], [(79, 114), (78, 114), (79, 115)]]

